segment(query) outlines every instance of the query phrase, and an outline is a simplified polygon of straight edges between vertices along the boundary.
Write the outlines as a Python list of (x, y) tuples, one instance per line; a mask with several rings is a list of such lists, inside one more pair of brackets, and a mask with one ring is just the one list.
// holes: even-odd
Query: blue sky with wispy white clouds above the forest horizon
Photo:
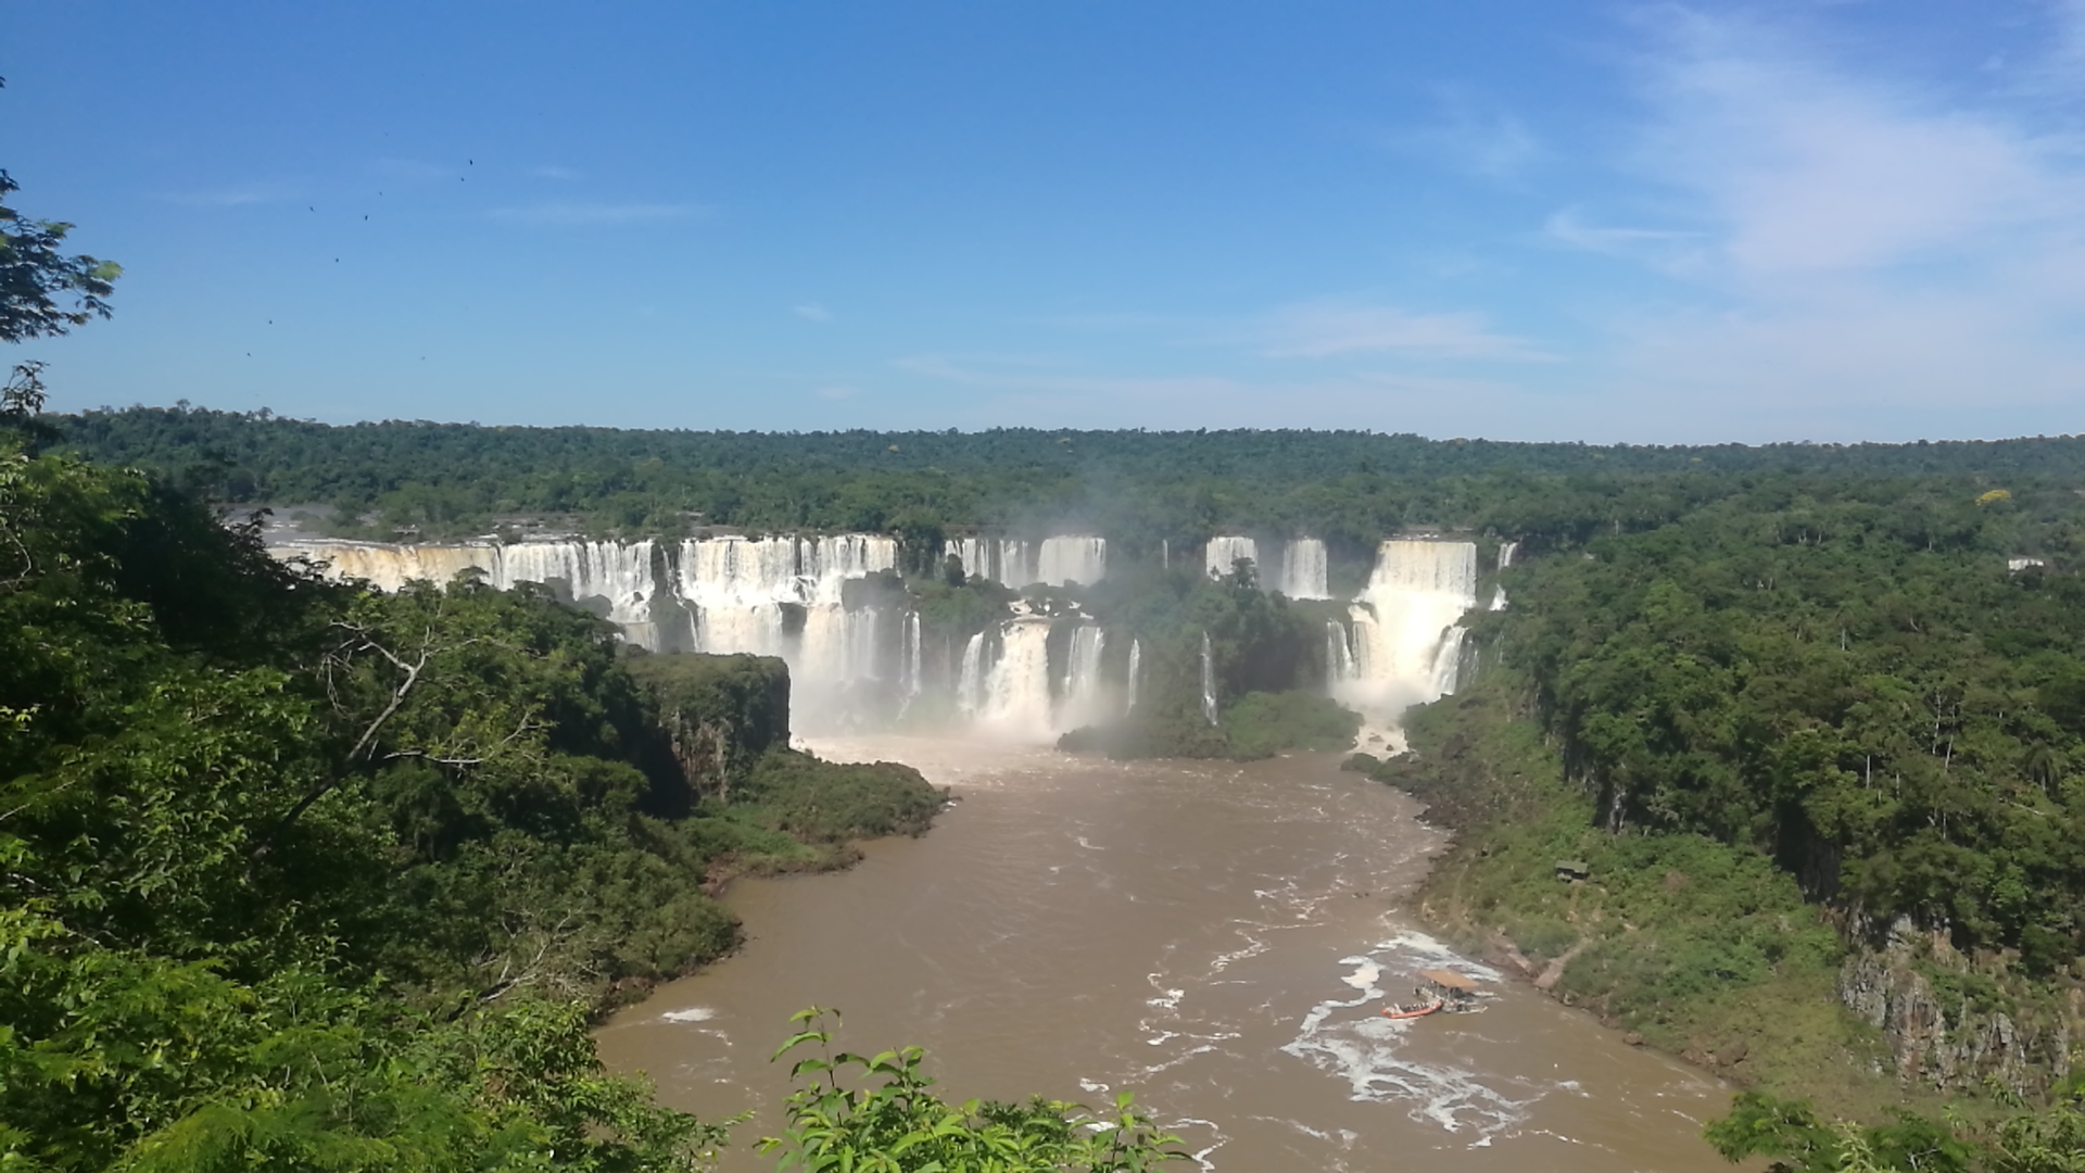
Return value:
[(17, 6), (63, 409), (2085, 432), (2085, 0)]

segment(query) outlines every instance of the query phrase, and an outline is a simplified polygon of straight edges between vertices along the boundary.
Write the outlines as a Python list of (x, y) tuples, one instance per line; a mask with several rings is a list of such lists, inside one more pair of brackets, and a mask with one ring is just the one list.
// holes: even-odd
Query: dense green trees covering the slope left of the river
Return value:
[(596, 998), (736, 941), (719, 856), (938, 806), (771, 753), (734, 770), (774, 812), (698, 804), (600, 620), (329, 586), (0, 430), (0, 1163), (707, 1165)]

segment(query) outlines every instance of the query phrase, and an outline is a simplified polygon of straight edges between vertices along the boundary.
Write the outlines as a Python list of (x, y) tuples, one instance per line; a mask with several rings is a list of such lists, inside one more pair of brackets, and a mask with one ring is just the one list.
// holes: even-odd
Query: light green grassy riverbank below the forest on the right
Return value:
[(1610, 835), (1493, 672), (1414, 710), (1409, 753), (1351, 764), (1426, 801), (1453, 833), (1418, 916), (1566, 1006), (1747, 1090), (1826, 1117), (1933, 1110), (1887, 1039), (1839, 1000), (1845, 948), (1758, 852), (1697, 835)]

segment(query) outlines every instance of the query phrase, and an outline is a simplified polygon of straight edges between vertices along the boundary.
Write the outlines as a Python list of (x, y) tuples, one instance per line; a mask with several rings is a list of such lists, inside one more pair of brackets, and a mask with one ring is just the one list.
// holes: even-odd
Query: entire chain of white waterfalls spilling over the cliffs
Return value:
[[(336, 576), (367, 578), (388, 591), (411, 580), (448, 582), (475, 568), (498, 589), (550, 584), (559, 595), (607, 614), (632, 643), (657, 651), (778, 655), (790, 664), (801, 724), (815, 726), (828, 714), (847, 720), (890, 716), (928, 691), (922, 616), (911, 607), (872, 603), (890, 597), (882, 586), (849, 586), (897, 568), (899, 545), (890, 536), (715, 536), (667, 549), (657, 543), (590, 541), (292, 543), (273, 553), (325, 559)], [(1090, 582), (1103, 578), (1107, 568), (1107, 545), (1097, 536), (961, 538), (951, 543), (951, 553), (974, 572), (1011, 582)], [(1205, 561), (1228, 574), (1230, 559), (1257, 553), (1251, 538), (1222, 536), (1209, 543)], [(1322, 595), (1324, 543), (1295, 538), (1280, 551), (1270, 547), (1270, 553), (1278, 553), (1278, 576), (1270, 576), (1274, 589), (1299, 599)], [(1501, 543), (1501, 570), (1512, 566), (1514, 553), (1512, 543)], [(1161, 557), (1170, 557), (1168, 547), (1161, 547)], [(1468, 543), (1382, 543), (1370, 584), (1349, 609), (1351, 620), (1326, 628), (1332, 691), (1378, 718), (1453, 691), (1462, 649), (1457, 624), (1472, 605), (1474, 580), (1474, 547)], [(853, 607), (847, 605), (849, 595), (857, 599)], [(1503, 605), (1503, 595), (1493, 593), (1491, 603)], [(1036, 737), (1111, 716), (1118, 680), (1103, 687), (1099, 678), (1107, 647), (1101, 628), (1082, 624), (1074, 630), (1068, 645), (1059, 643), (1065, 660), (1053, 668), (1049, 626), (1042, 618), (1003, 622), (970, 637), (959, 666), (940, 660), (940, 672), (953, 676), (949, 685), (957, 710), (982, 726)], [(1145, 693), (1143, 647), (1134, 639), (1126, 660), (1126, 678), (1120, 680), (1124, 712)], [(1201, 676), (1203, 716), (1213, 722), (1220, 714), (1207, 635)], [(892, 687), (855, 687), (867, 680)]]

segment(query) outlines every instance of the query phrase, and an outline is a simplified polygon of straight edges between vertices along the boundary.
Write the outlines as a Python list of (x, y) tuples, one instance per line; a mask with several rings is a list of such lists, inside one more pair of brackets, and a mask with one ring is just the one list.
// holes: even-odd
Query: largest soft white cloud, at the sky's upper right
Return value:
[(2077, 221), (2075, 152), (1991, 111), (1816, 61), (1787, 33), (1674, 13), (1643, 169), (1701, 200), (1739, 276), (1974, 257)]

